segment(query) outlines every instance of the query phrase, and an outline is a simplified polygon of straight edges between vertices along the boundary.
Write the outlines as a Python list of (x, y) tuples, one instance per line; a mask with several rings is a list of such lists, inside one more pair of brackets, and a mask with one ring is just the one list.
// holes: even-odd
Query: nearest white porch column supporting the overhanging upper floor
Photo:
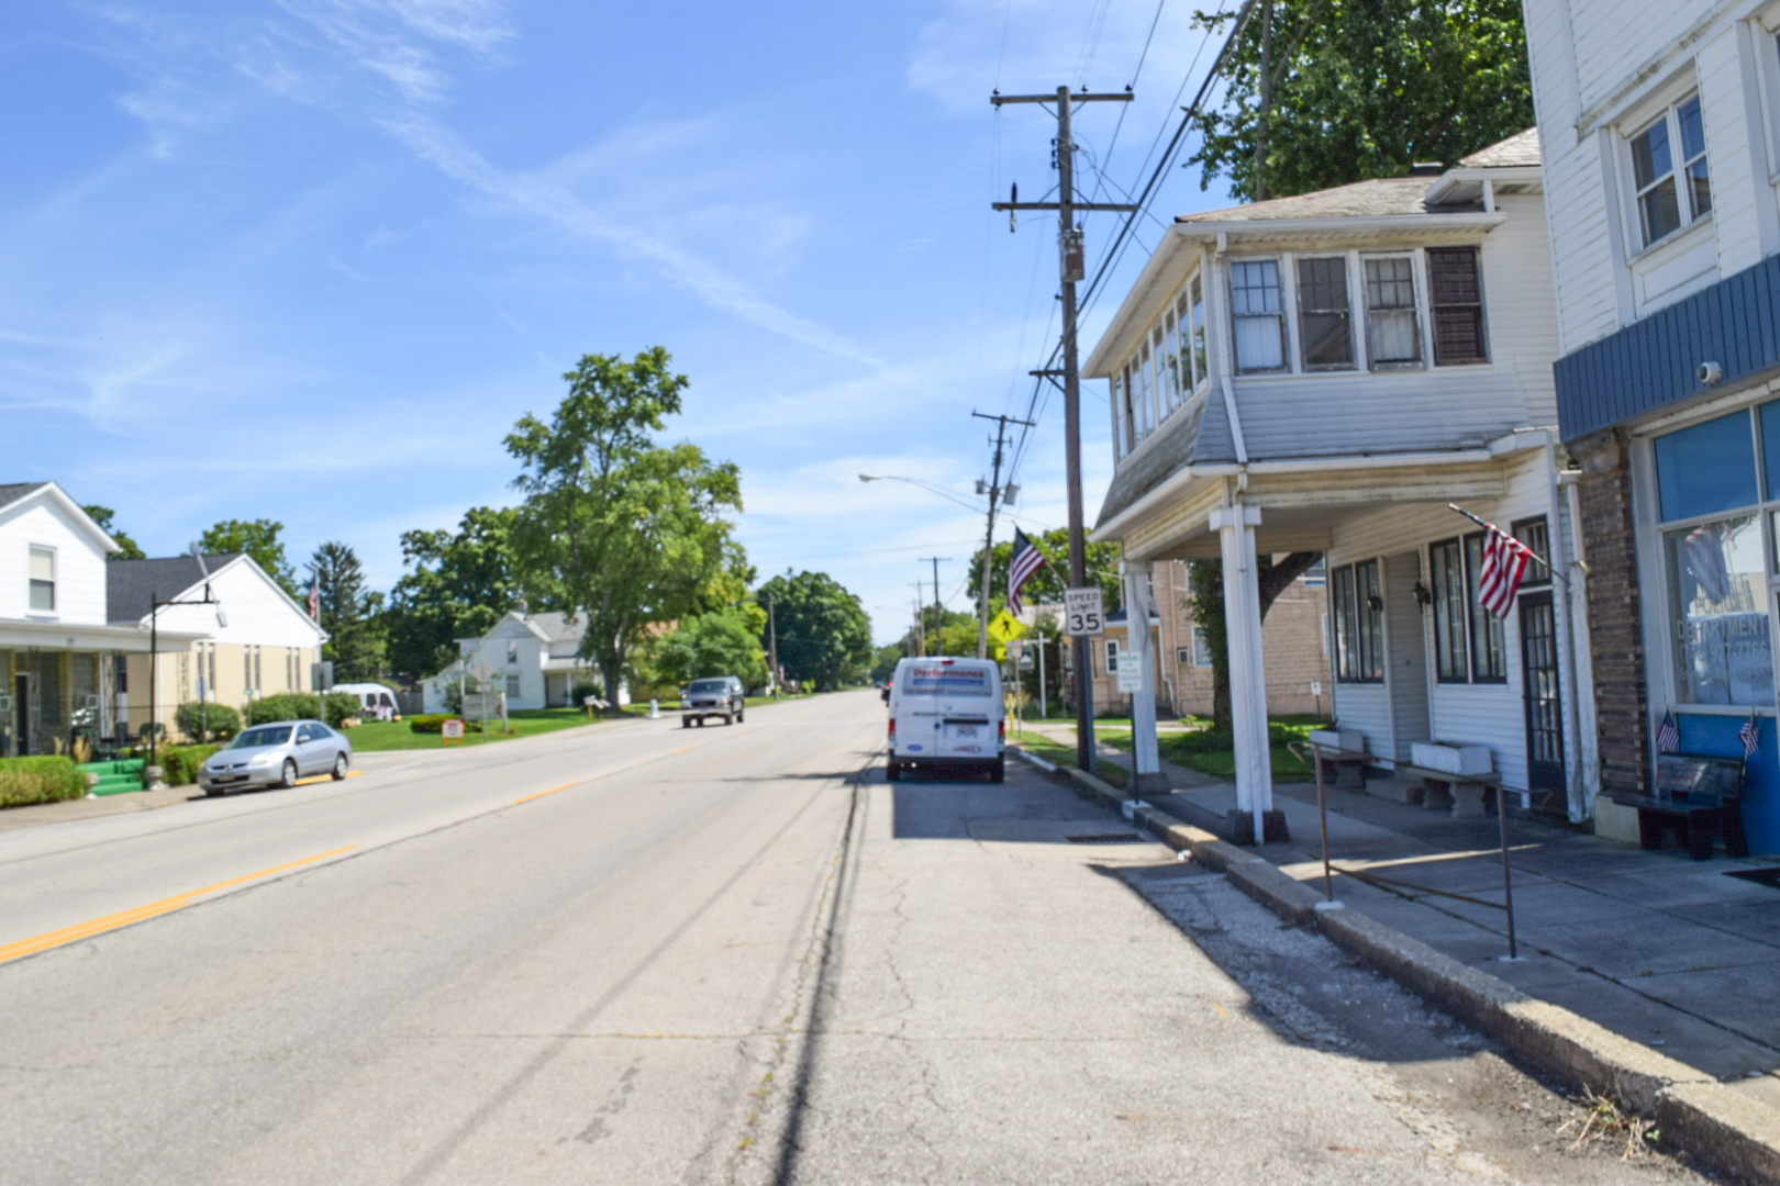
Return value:
[(1235, 802), (1239, 836), (1283, 836), (1283, 820), (1267, 827), (1273, 811), (1273, 756), (1267, 745), (1267, 663), (1260, 645), (1260, 565), (1255, 526), (1260, 507), (1235, 503), (1210, 514), (1223, 546), (1225, 629), (1230, 640), (1230, 727), (1235, 740)]

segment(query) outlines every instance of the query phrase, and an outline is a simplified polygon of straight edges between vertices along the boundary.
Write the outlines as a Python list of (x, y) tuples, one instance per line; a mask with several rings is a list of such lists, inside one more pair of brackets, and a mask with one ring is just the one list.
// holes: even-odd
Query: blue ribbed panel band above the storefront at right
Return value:
[(1702, 363), (1718, 363), (1723, 382), (1780, 366), (1776, 311), (1780, 256), (1769, 256), (1563, 356), (1552, 368), (1563, 439), (1711, 391), (1700, 382)]

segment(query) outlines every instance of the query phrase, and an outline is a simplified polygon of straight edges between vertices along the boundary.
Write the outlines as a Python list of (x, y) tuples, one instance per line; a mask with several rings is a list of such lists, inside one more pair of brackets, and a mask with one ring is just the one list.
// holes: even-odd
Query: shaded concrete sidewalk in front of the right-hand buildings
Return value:
[[(1043, 733), (1075, 743), (1072, 727)], [(1105, 745), (1096, 754), (1130, 766), (1130, 754)], [(1235, 784), (1168, 761), (1162, 773), (1173, 791), (1143, 795), (1145, 802), (1184, 825), (1228, 834)], [(1380, 781), (1369, 786), (1383, 789)], [(1326, 798), (1331, 864), (1502, 902), (1493, 814), (1452, 820), (1447, 811), (1331, 786)], [(1242, 852), (1324, 898), (1315, 784), (1276, 786), (1274, 807), (1285, 813), (1290, 839)], [(1166, 829), (1161, 818), (1150, 827)], [(1383, 889), (1339, 869), (1333, 896), (1349, 916), (1362, 914), (1780, 1110), (1780, 882), (1730, 877), (1780, 871), (1780, 859), (1691, 861), (1679, 848), (1643, 852), (1513, 816), (1508, 843), (1517, 960), (1508, 960), (1501, 909), (1426, 889)]]

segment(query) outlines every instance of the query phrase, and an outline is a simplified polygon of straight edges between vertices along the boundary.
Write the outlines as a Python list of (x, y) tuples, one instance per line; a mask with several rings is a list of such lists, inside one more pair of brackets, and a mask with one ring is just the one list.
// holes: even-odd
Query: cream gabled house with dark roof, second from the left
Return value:
[[(153, 702), (169, 733), (176, 731), (178, 706), (198, 699), (246, 709), (263, 695), (313, 690), (312, 665), (328, 631), (253, 557), (222, 553), (201, 564), (196, 557), (112, 560), (105, 576), (116, 624), (146, 631), (153, 615), (157, 633), (190, 638), (178, 654), (164, 653), (155, 663)], [(215, 605), (201, 605), (206, 589)], [(128, 681), (130, 715), (141, 727), (150, 706), (146, 654), (130, 660)]]

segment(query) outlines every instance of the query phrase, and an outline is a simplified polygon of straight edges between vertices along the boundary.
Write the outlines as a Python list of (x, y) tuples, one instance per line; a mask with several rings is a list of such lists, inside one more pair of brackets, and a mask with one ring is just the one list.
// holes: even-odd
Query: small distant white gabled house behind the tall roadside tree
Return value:
[[(600, 669), (577, 658), (586, 619), (509, 612), (481, 638), (459, 638), (463, 658), (422, 683), (425, 711), (443, 713), (450, 688), (468, 672), (482, 688), (506, 692), (507, 708), (562, 708), (577, 686), (603, 688)], [(619, 702), (628, 702), (619, 690)]]

